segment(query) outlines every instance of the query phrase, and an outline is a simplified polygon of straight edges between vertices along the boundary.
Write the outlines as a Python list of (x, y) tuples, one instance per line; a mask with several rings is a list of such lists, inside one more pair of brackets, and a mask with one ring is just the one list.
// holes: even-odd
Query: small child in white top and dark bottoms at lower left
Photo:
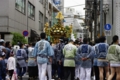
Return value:
[(8, 68), (8, 72), (11, 80), (12, 75), (16, 69), (16, 63), (15, 63), (15, 58), (13, 53), (10, 53), (10, 57), (8, 58), (8, 62), (7, 62), (7, 68)]

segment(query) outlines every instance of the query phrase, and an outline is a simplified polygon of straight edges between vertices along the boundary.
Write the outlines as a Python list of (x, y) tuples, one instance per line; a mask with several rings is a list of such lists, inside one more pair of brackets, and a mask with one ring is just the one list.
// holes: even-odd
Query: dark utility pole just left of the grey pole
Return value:
[(97, 34), (97, 0), (94, 0), (94, 41)]

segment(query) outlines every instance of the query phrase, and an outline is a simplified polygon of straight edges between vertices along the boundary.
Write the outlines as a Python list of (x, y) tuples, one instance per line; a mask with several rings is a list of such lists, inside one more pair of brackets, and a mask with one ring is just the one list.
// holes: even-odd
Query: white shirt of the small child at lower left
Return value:
[(9, 57), (7, 62), (7, 68), (8, 70), (14, 70), (16, 69), (16, 63), (14, 57)]

